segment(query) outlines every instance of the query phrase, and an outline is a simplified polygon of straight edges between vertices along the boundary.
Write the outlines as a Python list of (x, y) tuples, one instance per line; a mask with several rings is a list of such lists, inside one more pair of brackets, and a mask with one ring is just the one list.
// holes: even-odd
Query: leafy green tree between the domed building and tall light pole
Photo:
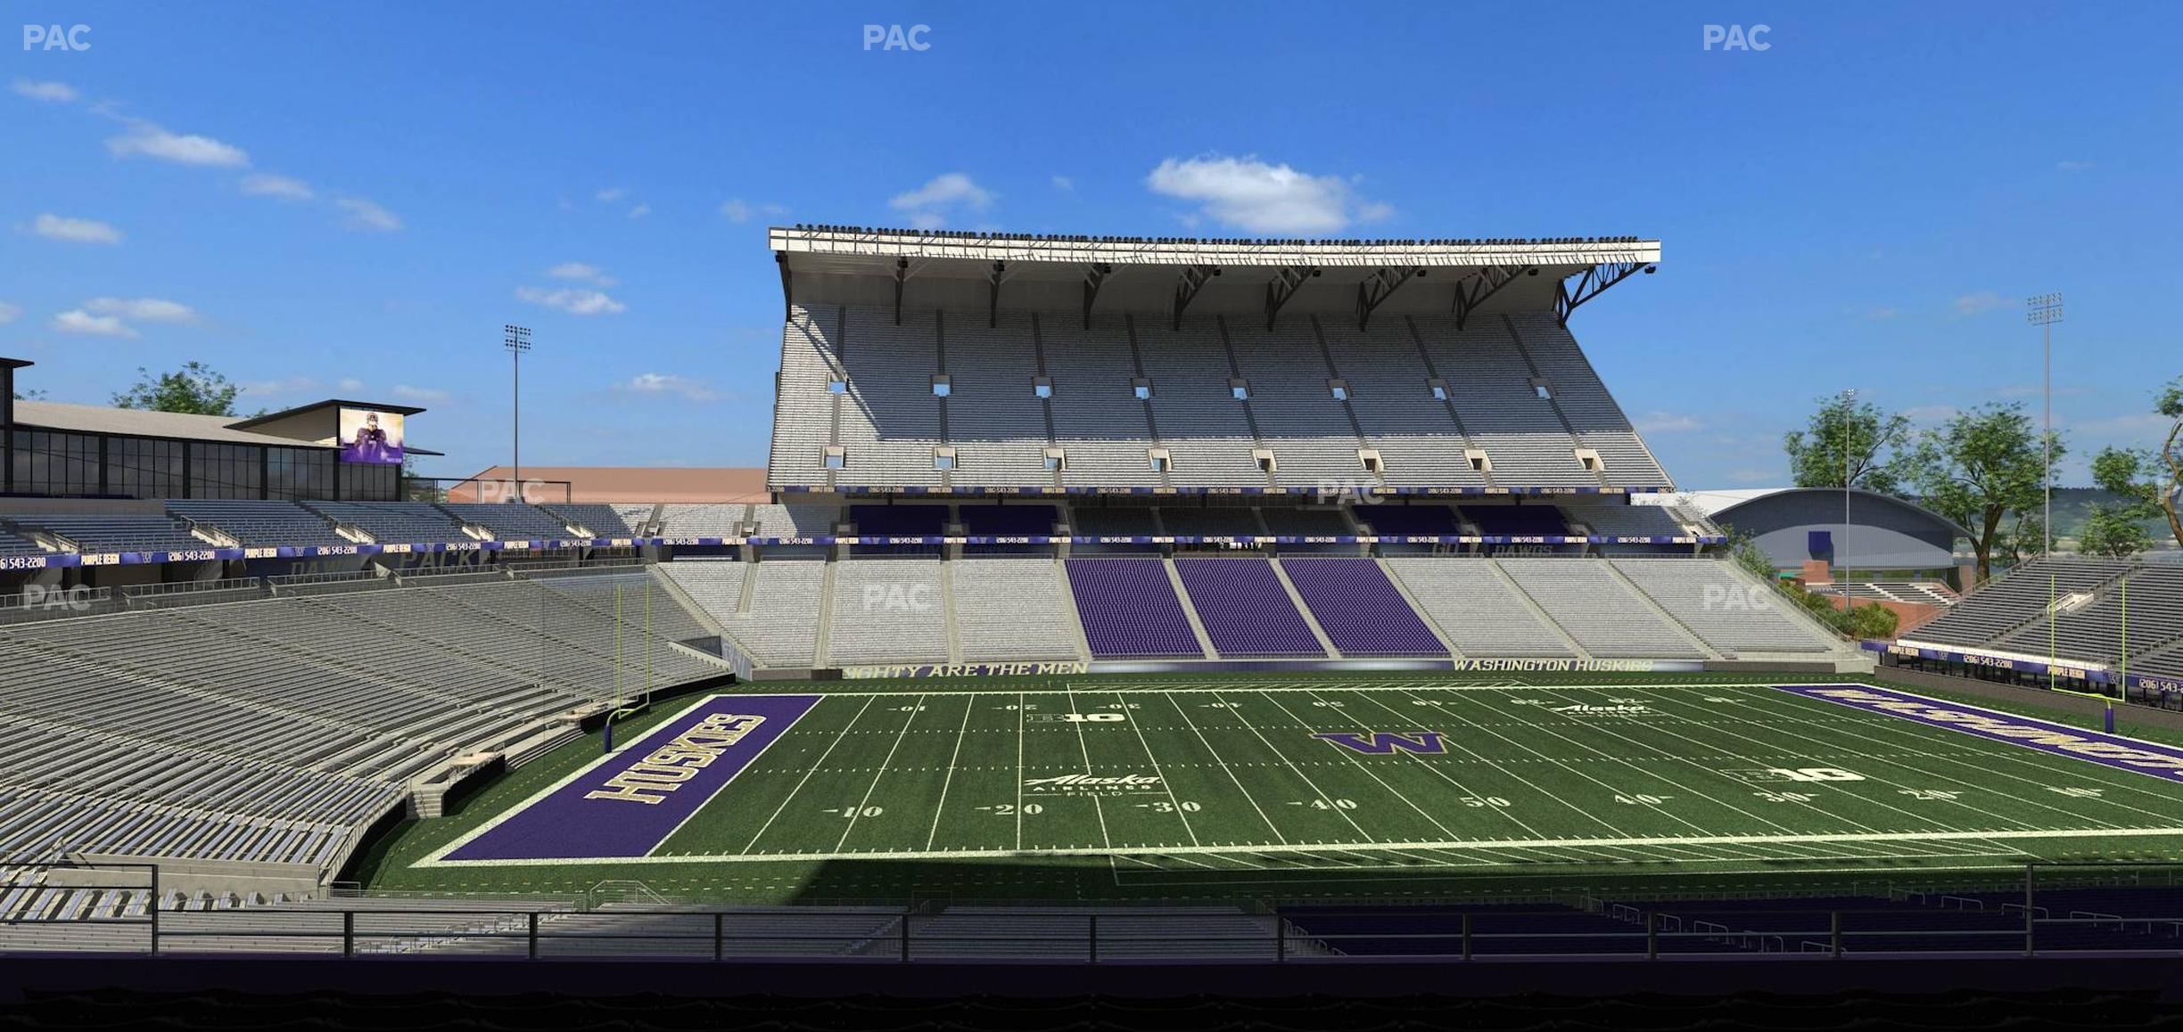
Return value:
[[(2024, 519), (2037, 524), (2045, 487), (2041, 443), (2021, 404), (1987, 404), (1919, 434), (1908, 458), (1908, 482), (1925, 506), (1971, 530), (1980, 580), (1993, 576), (1997, 552), (2026, 554)], [(2061, 434), (2052, 447), (2059, 463)]]

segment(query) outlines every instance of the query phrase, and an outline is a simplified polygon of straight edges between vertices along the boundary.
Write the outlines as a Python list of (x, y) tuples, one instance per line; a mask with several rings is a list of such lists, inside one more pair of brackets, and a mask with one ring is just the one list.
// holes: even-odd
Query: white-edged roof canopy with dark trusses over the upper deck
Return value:
[(1273, 240), (768, 229), (788, 303), (1039, 312), (1554, 310), (1659, 262), (1659, 240)]

